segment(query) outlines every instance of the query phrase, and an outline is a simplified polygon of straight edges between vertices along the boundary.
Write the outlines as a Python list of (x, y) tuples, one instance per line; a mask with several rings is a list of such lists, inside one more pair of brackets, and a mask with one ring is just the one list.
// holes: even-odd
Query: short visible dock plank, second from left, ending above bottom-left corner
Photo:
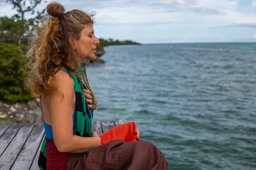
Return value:
[(15, 125), (15, 126), (7, 128), (7, 130), (5, 130), (5, 132), (1, 135), (1, 138), (0, 138), (0, 158), (3, 155), (4, 150), (6, 150), (7, 146), (12, 141), (13, 137), (19, 131), (19, 129), (20, 129), (20, 126)]

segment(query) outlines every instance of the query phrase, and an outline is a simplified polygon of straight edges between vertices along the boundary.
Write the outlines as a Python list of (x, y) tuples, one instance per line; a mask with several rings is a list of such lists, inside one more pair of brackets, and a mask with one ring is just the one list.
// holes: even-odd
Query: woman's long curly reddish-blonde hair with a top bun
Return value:
[(30, 43), (26, 65), (29, 70), (26, 86), (38, 98), (56, 90), (52, 77), (60, 68), (76, 72), (76, 67), (81, 65), (83, 58), (72, 47), (68, 38), (72, 36), (78, 40), (84, 26), (93, 24), (93, 15), (81, 10), (65, 13), (65, 8), (60, 3), (48, 4), (47, 13), (50, 15), (49, 19), (38, 26)]

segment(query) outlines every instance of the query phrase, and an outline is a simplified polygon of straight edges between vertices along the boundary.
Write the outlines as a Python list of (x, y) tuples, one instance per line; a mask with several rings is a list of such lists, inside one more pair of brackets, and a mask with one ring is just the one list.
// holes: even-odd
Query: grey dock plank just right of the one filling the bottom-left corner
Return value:
[(43, 136), (44, 127), (42, 125), (36, 125), (20, 151), (19, 156), (15, 160), (12, 169), (29, 169), (33, 159), (35, 158), (38, 146), (40, 145)]

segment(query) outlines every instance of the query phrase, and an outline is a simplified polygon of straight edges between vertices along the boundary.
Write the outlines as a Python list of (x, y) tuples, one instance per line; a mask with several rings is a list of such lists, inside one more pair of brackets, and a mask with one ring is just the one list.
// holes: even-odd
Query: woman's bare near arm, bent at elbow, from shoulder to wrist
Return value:
[(74, 112), (74, 81), (64, 72), (54, 77), (58, 91), (50, 95), (50, 114), (54, 143), (60, 152), (82, 153), (93, 146), (99, 146), (100, 137), (80, 137), (73, 135), (72, 114)]

